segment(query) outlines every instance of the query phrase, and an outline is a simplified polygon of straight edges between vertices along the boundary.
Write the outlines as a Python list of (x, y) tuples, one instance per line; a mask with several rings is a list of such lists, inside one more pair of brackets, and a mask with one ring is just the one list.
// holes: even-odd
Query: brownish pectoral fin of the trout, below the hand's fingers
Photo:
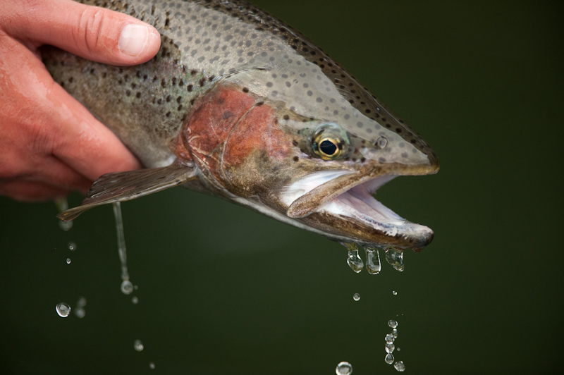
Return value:
[(92, 207), (149, 195), (185, 183), (196, 176), (197, 170), (193, 164), (179, 161), (162, 168), (106, 173), (92, 184), (80, 206), (63, 211), (57, 217), (63, 221), (73, 220)]

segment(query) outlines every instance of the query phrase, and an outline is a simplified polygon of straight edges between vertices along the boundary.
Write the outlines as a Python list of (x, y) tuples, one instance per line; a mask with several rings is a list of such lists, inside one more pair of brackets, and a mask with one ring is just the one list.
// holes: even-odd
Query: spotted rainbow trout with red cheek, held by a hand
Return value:
[(436, 173), (436, 153), (300, 32), (240, 0), (79, 2), (153, 25), (161, 48), (116, 67), (43, 47), (54, 80), (145, 167), (101, 176), (59, 219), (183, 185), (349, 250), (429, 245), (433, 230), (374, 193)]

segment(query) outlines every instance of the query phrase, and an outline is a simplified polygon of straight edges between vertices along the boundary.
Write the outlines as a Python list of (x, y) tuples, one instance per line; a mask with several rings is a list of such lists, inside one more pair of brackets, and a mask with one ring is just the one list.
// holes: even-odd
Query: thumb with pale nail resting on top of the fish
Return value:
[(118, 66), (144, 63), (159, 51), (159, 32), (123, 13), (71, 0), (16, 3), (9, 31), (20, 39)]

